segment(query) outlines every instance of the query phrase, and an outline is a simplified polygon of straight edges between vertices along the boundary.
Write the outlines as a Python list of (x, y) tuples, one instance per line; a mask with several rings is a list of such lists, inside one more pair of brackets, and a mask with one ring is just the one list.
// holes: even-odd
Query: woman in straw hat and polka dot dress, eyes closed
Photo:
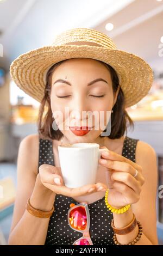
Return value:
[[(58, 35), (52, 46), (22, 54), (10, 73), (41, 105), (39, 134), (24, 138), (18, 151), (9, 245), (72, 245), (81, 235), (69, 227), (67, 211), (83, 200), (89, 206), (93, 245), (157, 245), (156, 154), (151, 145), (124, 136), (127, 124), (133, 124), (125, 108), (139, 102), (152, 86), (149, 65), (117, 50), (105, 34), (77, 28)], [(103, 136), (107, 129), (95, 130), (95, 123), (84, 133), (71, 126), (54, 130), (55, 123), (61, 126), (53, 113), (64, 114), (66, 107), (73, 127), (84, 122), (77, 113), (110, 111), (110, 133)], [(104, 123), (107, 128), (106, 115)], [(75, 142), (95, 142), (105, 149), (96, 184), (64, 186), (58, 145)]]

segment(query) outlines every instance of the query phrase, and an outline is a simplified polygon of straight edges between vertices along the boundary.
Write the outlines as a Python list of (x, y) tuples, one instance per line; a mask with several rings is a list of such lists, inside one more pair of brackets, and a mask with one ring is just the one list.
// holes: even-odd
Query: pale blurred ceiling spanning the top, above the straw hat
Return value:
[[(108, 22), (114, 24), (111, 32), (105, 30)], [(95, 28), (111, 36), (118, 48), (151, 63), (162, 62), (158, 47), (163, 1), (4, 0), (0, 1), (0, 66), (9, 70), (20, 54), (51, 44), (56, 34), (74, 27)]]

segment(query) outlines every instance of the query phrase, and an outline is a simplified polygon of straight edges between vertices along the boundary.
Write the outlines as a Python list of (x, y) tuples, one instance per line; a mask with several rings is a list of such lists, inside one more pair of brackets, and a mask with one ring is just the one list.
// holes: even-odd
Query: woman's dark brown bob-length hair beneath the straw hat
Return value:
[[(54, 70), (57, 68), (57, 66), (59, 66), (62, 62), (65, 62), (65, 61), (66, 60), (62, 60), (61, 62), (54, 64), (48, 70), (46, 75), (45, 94), (40, 104), (39, 118), (38, 118), (39, 135), (43, 139), (59, 140), (63, 136), (63, 133), (59, 129), (55, 131), (52, 127), (54, 118), (53, 118), (52, 109), (51, 109), (50, 94), (51, 94), (52, 74)], [(101, 63), (104, 64), (110, 72), (111, 80), (112, 80), (112, 90), (115, 94), (119, 86), (119, 80), (118, 80), (116, 71), (110, 65), (103, 62)], [(134, 128), (133, 120), (131, 120), (127, 111), (124, 109), (124, 105), (125, 105), (124, 94), (120, 87), (116, 103), (112, 108), (113, 112), (111, 113), (111, 132), (110, 132), (110, 135), (108, 136), (110, 139), (121, 138), (124, 135), (125, 131), (127, 132), (128, 125)], [(45, 109), (46, 106), (47, 106), (47, 109)], [(105, 131), (106, 130), (104, 130), (103, 132)]]

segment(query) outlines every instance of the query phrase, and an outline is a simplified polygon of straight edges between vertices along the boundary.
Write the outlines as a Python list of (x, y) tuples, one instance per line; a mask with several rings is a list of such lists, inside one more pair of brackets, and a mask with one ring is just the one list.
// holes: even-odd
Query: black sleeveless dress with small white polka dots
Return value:
[[(135, 162), (135, 150), (138, 139), (125, 137), (122, 156)], [(54, 166), (52, 141), (39, 140), (39, 166), (43, 163)], [(67, 212), (70, 204), (78, 204), (71, 197), (57, 194), (54, 202), (54, 212), (49, 220), (45, 245), (72, 245), (82, 237), (82, 233), (70, 228)], [(114, 245), (111, 228), (112, 213), (105, 206), (104, 197), (88, 205), (90, 211), (90, 236), (93, 245)]]

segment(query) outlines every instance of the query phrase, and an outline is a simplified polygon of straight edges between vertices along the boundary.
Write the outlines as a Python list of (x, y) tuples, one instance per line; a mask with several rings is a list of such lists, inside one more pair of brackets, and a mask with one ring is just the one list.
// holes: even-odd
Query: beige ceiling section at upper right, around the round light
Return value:
[[(114, 29), (107, 34), (117, 48), (144, 58), (148, 62), (159, 61), (160, 38), (163, 36), (163, 1), (136, 0), (126, 8), (99, 23), (95, 29), (105, 33), (105, 24), (111, 22)], [(163, 58), (162, 64), (163, 64)]]

